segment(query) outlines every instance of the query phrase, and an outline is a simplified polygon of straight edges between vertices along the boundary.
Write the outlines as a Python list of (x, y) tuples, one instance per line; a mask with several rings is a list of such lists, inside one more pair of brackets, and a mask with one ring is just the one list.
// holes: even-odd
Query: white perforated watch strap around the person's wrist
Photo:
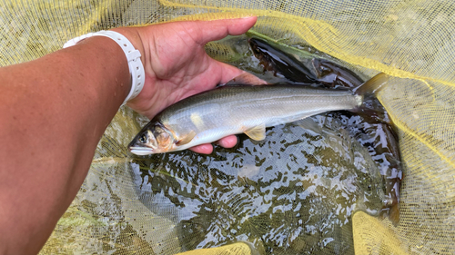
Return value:
[(133, 44), (126, 39), (123, 34), (116, 33), (114, 31), (98, 31), (96, 33), (88, 33), (76, 38), (73, 38), (63, 45), (64, 48), (76, 45), (78, 42), (92, 36), (106, 36), (114, 40), (126, 54), (128, 61), (129, 74), (131, 74), (131, 91), (126, 96), (126, 99), (122, 105), (129, 100), (135, 98), (137, 94), (142, 91), (144, 82), (146, 81), (146, 73), (144, 71), (144, 65), (141, 62), (141, 54), (135, 49)]

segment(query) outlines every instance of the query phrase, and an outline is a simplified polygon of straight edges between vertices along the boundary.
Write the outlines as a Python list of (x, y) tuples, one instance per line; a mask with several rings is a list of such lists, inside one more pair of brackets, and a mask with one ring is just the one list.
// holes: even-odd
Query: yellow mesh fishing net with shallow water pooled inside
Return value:
[[(351, 170), (352, 151), (343, 150), (368, 153), (343, 132), (325, 127), (334, 142), (284, 125), (269, 129), (266, 142), (240, 136), (238, 147), (210, 156), (135, 157), (126, 144), (147, 119), (125, 107), (42, 254), (455, 252), (452, 2), (46, 0), (2, 1), (0, 10), (1, 65), (116, 26), (258, 15), (250, 34), (338, 59), (364, 77), (392, 76), (379, 100), (397, 126), (404, 167), (397, 226), (368, 213), (383, 194), (363, 181), (380, 181)], [(238, 64), (248, 45), (227, 41), (207, 53)]]

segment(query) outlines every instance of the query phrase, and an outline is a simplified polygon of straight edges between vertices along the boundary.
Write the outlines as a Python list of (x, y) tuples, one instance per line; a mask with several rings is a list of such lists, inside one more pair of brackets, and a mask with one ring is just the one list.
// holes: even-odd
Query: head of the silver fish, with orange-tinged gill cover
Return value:
[(128, 145), (129, 151), (136, 155), (172, 152), (176, 145), (173, 132), (162, 123), (148, 123)]

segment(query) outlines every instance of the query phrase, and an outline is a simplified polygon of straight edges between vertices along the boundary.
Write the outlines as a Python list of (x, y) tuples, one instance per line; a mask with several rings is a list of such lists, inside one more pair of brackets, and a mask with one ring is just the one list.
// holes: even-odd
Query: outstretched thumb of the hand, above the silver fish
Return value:
[(200, 30), (201, 37), (195, 38), (198, 44), (207, 44), (230, 35), (245, 34), (249, 28), (255, 25), (258, 17), (245, 17), (238, 19), (221, 19), (213, 21), (197, 21), (194, 25)]

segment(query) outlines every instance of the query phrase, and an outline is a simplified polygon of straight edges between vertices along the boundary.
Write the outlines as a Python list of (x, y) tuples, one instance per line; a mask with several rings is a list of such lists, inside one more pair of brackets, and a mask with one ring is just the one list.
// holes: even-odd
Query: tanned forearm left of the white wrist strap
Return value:
[(130, 77), (121, 48), (96, 36), (0, 68), (0, 81), (0, 253), (31, 254), (76, 196)]

